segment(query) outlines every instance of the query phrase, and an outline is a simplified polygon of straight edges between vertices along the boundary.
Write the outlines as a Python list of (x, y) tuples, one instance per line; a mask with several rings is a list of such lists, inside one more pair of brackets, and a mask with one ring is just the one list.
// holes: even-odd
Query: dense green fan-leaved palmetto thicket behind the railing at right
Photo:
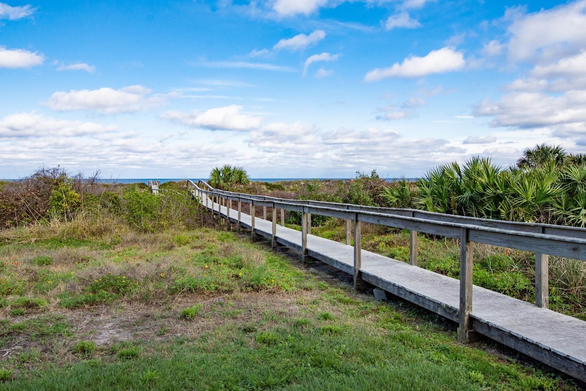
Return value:
[(414, 185), (381, 192), (387, 206), (452, 215), (586, 226), (586, 159), (537, 145), (503, 169), (474, 157), (431, 169)]

